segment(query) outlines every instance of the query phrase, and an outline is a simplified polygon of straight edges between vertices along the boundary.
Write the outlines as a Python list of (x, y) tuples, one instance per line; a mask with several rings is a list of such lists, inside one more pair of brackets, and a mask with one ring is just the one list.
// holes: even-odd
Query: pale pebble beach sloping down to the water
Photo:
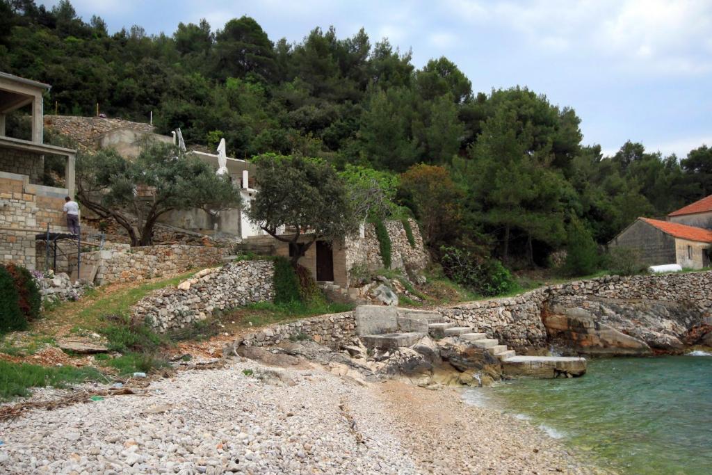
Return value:
[(0, 473), (596, 473), (455, 390), (244, 360), (181, 371), (147, 392), (0, 422)]

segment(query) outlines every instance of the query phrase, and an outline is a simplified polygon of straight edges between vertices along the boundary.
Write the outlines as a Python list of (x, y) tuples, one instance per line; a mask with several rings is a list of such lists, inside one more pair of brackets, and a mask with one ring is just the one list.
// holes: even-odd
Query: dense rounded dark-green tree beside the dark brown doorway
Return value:
[[(271, 154), (255, 161), (260, 192), (247, 214), (267, 234), (290, 243), (293, 266), (318, 239), (335, 241), (356, 231), (345, 184), (327, 162)], [(285, 234), (278, 234), (281, 227)], [(300, 236), (308, 239), (298, 242)]]

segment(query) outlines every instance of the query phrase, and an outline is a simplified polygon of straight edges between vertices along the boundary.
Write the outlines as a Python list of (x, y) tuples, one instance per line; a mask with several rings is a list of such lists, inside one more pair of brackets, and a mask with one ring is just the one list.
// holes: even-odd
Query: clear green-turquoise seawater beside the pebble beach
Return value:
[(584, 377), (468, 390), (624, 474), (712, 474), (712, 356), (590, 360)]

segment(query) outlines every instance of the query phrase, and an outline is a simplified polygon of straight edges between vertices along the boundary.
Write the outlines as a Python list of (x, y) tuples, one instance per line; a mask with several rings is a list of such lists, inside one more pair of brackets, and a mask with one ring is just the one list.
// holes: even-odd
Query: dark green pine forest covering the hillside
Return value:
[(243, 17), (217, 31), (201, 21), (109, 34), (68, 1), (48, 11), (0, 0), (0, 71), (50, 83), (48, 112), (93, 115), (98, 103), (144, 122), (152, 112), (159, 132), (181, 127), (209, 147), (225, 137), (234, 157), (300, 154), (396, 174), (399, 204), (436, 255), (450, 246), (543, 266), (572, 227), (605, 243), (637, 216), (712, 193), (708, 147), (663, 157), (627, 142), (603, 157), (582, 144), (575, 110), (545, 91), (473, 91), (447, 58), (417, 69), (363, 30), (315, 28), (288, 43)]

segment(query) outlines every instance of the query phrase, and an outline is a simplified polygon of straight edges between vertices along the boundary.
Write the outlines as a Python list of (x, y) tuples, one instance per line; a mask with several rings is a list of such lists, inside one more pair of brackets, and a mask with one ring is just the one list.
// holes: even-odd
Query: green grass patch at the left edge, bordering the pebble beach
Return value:
[(31, 387), (63, 387), (67, 383), (104, 380), (92, 367), (43, 367), (0, 360), (0, 399), (30, 395)]

